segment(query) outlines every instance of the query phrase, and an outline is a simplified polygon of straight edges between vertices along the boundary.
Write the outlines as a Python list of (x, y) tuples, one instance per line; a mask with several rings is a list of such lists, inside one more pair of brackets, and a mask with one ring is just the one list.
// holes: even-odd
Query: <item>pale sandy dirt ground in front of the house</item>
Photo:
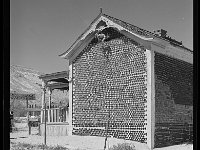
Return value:
[[(15, 123), (16, 130), (10, 133), (10, 143), (44, 144), (44, 137), (38, 135), (38, 128), (32, 127), (31, 135), (28, 134), (27, 123)], [(63, 146), (70, 150), (103, 150), (105, 137), (96, 136), (47, 136), (48, 146)], [(118, 143), (132, 143), (136, 150), (149, 150), (146, 144), (135, 141), (108, 139), (108, 147)], [(175, 145), (154, 150), (193, 150), (193, 145)]]

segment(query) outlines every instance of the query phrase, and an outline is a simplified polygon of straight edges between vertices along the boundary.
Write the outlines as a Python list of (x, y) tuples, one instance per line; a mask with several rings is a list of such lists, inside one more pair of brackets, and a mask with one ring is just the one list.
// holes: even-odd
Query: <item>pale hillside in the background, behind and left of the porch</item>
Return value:
[[(29, 101), (29, 104), (36, 104), (41, 106), (42, 99), (42, 80), (39, 76), (44, 73), (36, 71), (34, 69), (26, 68), (23, 66), (11, 65), (10, 66), (10, 92), (16, 92), (20, 94), (35, 94), (36, 100)], [(46, 93), (46, 101), (48, 102), (48, 92)], [(68, 103), (68, 91), (53, 90), (52, 102), (58, 104), (62, 102), (63, 105)], [(48, 104), (48, 103), (47, 103)], [(14, 111), (15, 116), (24, 116), (26, 114), (25, 109), (26, 102), (23, 100), (10, 100), (10, 109)]]

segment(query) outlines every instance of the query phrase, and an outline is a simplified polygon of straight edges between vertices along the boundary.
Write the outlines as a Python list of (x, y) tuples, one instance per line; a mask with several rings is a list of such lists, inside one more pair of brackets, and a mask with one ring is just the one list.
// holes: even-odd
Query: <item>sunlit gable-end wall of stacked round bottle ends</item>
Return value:
[(147, 141), (145, 51), (118, 36), (93, 40), (73, 61), (73, 134)]

